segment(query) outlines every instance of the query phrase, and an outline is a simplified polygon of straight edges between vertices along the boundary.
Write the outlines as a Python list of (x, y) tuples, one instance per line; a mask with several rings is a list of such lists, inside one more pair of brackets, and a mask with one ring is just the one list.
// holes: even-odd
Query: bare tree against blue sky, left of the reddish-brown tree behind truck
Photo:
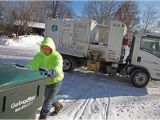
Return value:
[(97, 21), (101, 24), (107, 24), (107, 22), (113, 17), (118, 2), (111, 1), (89, 1), (85, 6), (83, 13), (89, 18)]

